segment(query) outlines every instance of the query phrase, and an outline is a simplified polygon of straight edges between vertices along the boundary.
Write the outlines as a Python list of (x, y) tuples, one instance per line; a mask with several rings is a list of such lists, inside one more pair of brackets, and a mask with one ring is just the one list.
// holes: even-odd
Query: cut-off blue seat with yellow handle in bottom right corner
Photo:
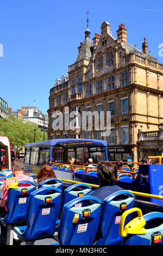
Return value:
[(163, 213), (149, 212), (142, 216), (139, 208), (133, 208), (133, 211), (138, 210), (138, 217), (125, 227), (122, 224), (120, 234), (124, 236), (123, 245), (163, 245)]

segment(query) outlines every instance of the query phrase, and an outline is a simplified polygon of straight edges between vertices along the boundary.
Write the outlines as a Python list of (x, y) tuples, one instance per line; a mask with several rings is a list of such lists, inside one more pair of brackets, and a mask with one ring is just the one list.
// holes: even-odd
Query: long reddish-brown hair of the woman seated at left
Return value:
[[(57, 176), (54, 173), (54, 170), (51, 166), (48, 166), (48, 164), (44, 164), (39, 173), (37, 173), (36, 179), (37, 179), (37, 187), (39, 187), (40, 182), (42, 182), (43, 180), (47, 180), (50, 178), (57, 178)], [(54, 183), (58, 183), (58, 181), (49, 181), (49, 183), (47, 184), (53, 184)]]

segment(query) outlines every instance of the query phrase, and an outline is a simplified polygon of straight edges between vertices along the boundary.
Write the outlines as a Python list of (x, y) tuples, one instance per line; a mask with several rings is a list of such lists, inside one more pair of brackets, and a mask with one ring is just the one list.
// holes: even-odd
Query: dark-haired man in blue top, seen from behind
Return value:
[(90, 193), (90, 196), (99, 198), (102, 203), (106, 197), (116, 191), (123, 190), (123, 188), (115, 185), (117, 168), (114, 164), (102, 161), (97, 166), (97, 176), (99, 179), (99, 187)]

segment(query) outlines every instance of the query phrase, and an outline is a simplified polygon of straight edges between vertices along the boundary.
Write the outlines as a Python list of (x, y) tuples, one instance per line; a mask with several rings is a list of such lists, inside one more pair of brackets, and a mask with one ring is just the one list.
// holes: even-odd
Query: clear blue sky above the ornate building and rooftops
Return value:
[(101, 34), (104, 21), (115, 38), (124, 23), (127, 42), (142, 49), (146, 36), (148, 50), (163, 63), (161, 0), (1, 0), (0, 10), (0, 96), (14, 111), (34, 106), (36, 100), (36, 107), (47, 114), (49, 90), (78, 56), (87, 10), (91, 39)]

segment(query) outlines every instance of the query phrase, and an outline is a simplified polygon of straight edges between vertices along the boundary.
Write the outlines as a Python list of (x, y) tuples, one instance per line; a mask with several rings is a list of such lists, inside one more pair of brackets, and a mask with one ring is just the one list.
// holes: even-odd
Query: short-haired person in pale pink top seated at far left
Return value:
[[(24, 175), (24, 164), (23, 161), (20, 159), (15, 159), (11, 163), (11, 169), (14, 177), (16, 178), (17, 181), (22, 181), (22, 180), (29, 180), (33, 181), (32, 177), (29, 177), (27, 175)], [(15, 182), (15, 179), (9, 179), (7, 181), (7, 188), (8, 186), (12, 183)], [(30, 186), (28, 183), (23, 184), (23, 186)], [(1, 217), (5, 217), (7, 215), (8, 209), (7, 209), (7, 199), (8, 199), (8, 189), (5, 188), (5, 184), (3, 185), (3, 194), (2, 194), (2, 199), (0, 200), (0, 215)], [(4, 225), (1, 224), (1, 236), (0, 236), (0, 242), (5, 241), (7, 236), (7, 227), (4, 227)]]

